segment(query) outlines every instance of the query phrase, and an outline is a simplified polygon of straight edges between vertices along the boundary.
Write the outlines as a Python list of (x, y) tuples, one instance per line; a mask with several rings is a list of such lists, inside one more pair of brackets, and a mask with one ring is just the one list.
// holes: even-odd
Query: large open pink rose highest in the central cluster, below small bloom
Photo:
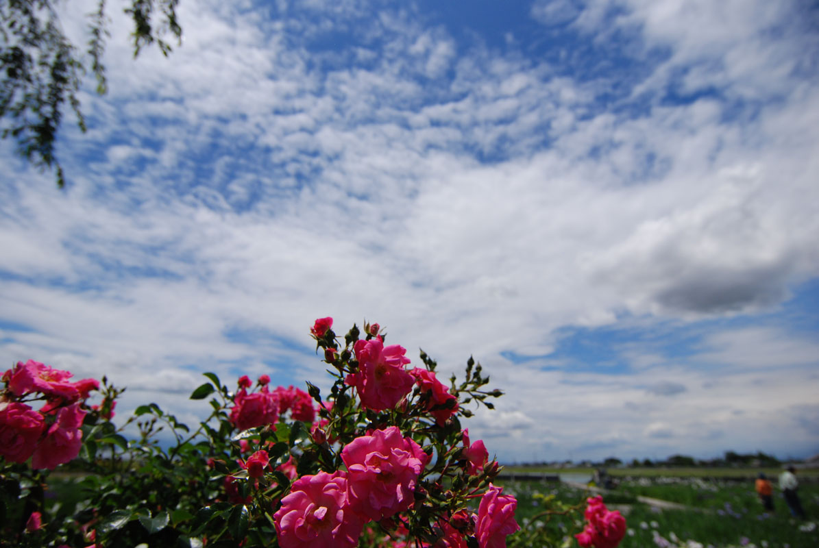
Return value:
[(413, 377), (404, 369), (409, 358), (404, 356), (403, 347), (384, 346), (378, 337), (355, 342), (353, 350), (359, 370), (347, 375), (344, 382), (355, 387), (363, 407), (373, 411), (392, 409), (412, 390)]

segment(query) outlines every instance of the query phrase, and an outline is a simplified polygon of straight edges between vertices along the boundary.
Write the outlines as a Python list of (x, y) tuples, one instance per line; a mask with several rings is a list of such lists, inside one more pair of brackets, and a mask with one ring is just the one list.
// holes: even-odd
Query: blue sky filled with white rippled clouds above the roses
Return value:
[(327, 387), (332, 315), (475, 356), (508, 462), (819, 452), (811, 2), (202, 0), (136, 60), (110, 11), (66, 190), (0, 143), (9, 365), (194, 420), (202, 371)]

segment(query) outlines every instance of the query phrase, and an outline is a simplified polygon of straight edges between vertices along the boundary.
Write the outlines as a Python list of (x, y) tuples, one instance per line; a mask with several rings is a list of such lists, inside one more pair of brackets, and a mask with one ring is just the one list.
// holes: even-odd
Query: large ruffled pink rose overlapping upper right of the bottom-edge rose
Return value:
[(373, 521), (407, 510), (429, 459), (395, 426), (355, 438), (342, 450), (351, 506)]

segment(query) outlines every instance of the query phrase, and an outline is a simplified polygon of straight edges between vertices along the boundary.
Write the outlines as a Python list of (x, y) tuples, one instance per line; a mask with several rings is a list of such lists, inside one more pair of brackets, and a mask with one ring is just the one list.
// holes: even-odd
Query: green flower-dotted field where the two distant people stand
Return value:
[[(578, 523), (561, 516), (532, 518), (543, 510), (542, 496), (577, 503), (589, 493), (560, 483), (503, 482), (518, 497), (518, 522), (527, 528), (552, 528), (568, 534)], [(647, 478), (625, 481), (604, 500), (611, 510), (626, 516), (628, 532), (622, 548), (658, 546), (756, 546), (757, 548), (817, 548), (819, 546), (819, 485), (803, 484), (800, 497), (808, 519), (792, 519), (785, 501), (777, 494), (775, 511), (764, 514), (753, 483), (713, 481), (702, 478)], [(688, 506), (686, 510), (659, 510), (638, 502), (651, 496)], [(566, 546), (577, 546), (572, 539)]]

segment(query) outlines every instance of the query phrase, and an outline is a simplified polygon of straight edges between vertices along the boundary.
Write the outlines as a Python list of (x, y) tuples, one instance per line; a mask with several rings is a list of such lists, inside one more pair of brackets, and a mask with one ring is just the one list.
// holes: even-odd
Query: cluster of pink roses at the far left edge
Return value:
[[(17, 362), (2, 375), (0, 455), (5, 460), (25, 463), (30, 457), (33, 469), (55, 469), (75, 459), (82, 445), (85, 400), (99, 383), (93, 378), (71, 382), (73, 376), (34, 360)], [(38, 400), (44, 400), (39, 410), (26, 403)]]

